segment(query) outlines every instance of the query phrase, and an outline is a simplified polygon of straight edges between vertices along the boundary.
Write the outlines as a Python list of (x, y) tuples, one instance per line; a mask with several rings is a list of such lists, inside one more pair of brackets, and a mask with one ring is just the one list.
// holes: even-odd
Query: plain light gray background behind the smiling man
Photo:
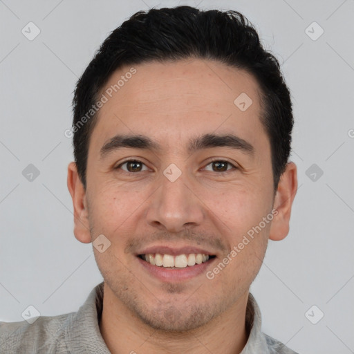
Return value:
[[(41, 315), (75, 311), (102, 281), (92, 245), (73, 236), (64, 136), (73, 88), (124, 19), (178, 4), (243, 12), (292, 93), (299, 190), (290, 234), (270, 241), (252, 284), (263, 331), (303, 354), (354, 353), (353, 0), (0, 0), (0, 319), (21, 321), (28, 305)], [(30, 21), (41, 30), (32, 41), (21, 33)], [(306, 34), (313, 21), (324, 30), (317, 40)], [(22, 174), (29, 164), (40, 172), (32, 182)], [(306, 175), (313, 164), (324, 171), (315, 181)], [(317, 324), (305, 315), (313, 305), (324, 313)]]

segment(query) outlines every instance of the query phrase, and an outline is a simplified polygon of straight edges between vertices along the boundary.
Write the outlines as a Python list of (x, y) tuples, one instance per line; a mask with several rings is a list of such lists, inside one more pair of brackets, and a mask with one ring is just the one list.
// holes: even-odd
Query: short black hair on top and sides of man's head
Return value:
[(279, 62), (263, 48), (254, 26), (240, 12), (190, 6), (136, 12), (104, 40), (77, 81), (73, 148), (85, 189), (88, 146), (97, 122), (97, 111), (92, 108), (109, 77), (123, 66), (189, 58), (216, 60), (255, 77), (261, 88), (261, 122), (270, 139), (274, 191), (277, 189), (290, 155), (294, 124), (290, 92)]

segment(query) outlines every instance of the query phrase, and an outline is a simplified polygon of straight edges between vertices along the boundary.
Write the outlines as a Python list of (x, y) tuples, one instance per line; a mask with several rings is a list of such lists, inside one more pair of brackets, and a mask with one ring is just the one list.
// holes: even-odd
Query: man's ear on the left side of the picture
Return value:
[(68, 165), (68, 190), (73, 199), (74, 206), (74, 234), (82, 243), (91, 242), (90, 225), (88, 223), (88, 209), (86, 191), (82, 184), (75, 162)]

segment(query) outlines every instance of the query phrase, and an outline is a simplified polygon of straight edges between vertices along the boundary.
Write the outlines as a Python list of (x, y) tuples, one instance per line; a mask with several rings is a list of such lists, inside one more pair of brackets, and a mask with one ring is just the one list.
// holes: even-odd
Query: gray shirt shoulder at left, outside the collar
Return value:
[(0, 354), (67, 353), (66, 330), (74, 314), (40, 316), (32, 324), (0, 322)]

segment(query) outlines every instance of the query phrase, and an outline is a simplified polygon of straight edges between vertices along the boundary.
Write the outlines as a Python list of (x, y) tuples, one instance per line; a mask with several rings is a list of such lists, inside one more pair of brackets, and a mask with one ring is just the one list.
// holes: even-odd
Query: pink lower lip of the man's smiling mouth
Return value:
[(209, 265), (216, 259), (212, 258), (205, 263), (187, 266), (186, 268), (165, 268), (152, 265), (147, 261), (142, 260), (140, 257), (136, 257), (140, 264), (154, 277), (162, 281), (180, 281), (192, 279), (198, 275), (205, 274)]

